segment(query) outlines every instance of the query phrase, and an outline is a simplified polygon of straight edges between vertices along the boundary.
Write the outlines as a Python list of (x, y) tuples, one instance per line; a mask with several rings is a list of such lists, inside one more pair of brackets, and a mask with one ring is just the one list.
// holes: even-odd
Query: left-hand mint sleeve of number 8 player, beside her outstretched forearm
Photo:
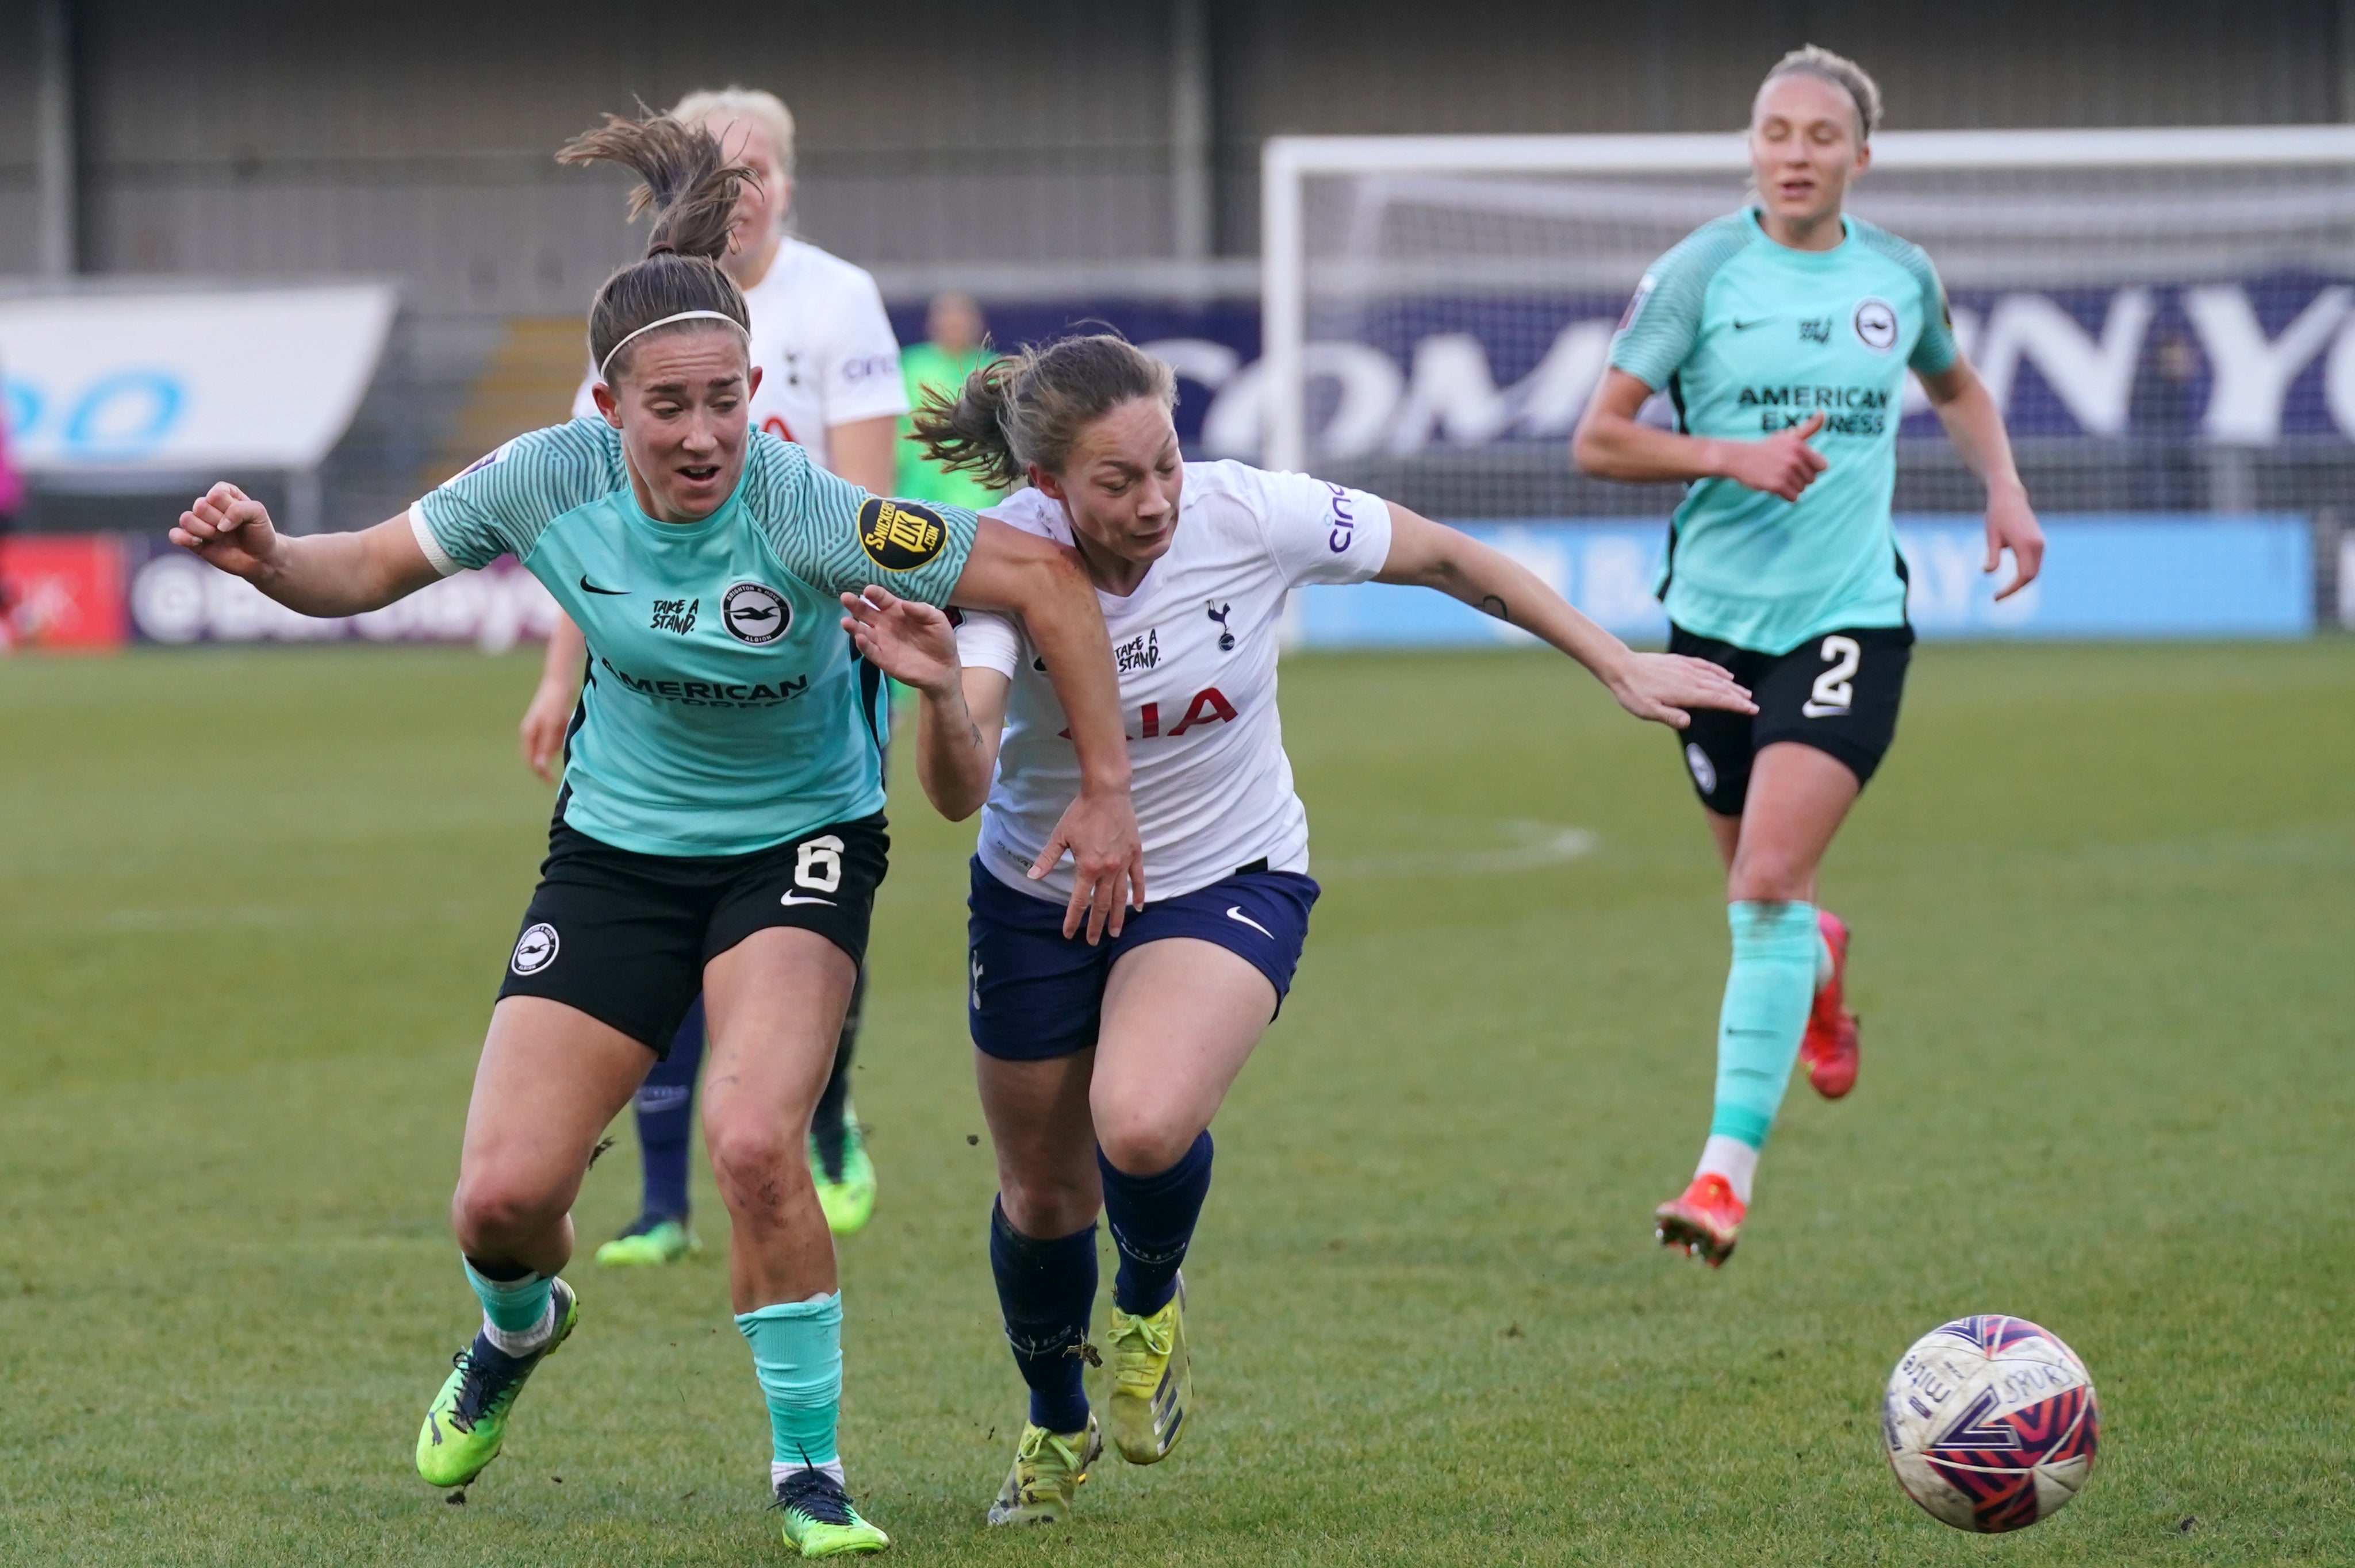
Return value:
[(603, 419), (575, 419), (476, 459), (410, 506), (410, 527), (447, 577), (499, 556), (530, 558), (549, 523), (624, 483), (619, 433)]

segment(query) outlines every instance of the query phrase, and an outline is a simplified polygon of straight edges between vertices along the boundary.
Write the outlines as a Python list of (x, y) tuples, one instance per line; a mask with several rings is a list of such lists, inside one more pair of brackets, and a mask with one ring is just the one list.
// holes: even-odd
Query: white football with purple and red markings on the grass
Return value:
[(2094, 1377), (2028, 1318), (1941, 1323), (1889, 1373), (1882, 1434), (1905, 1495), (1957, 1530), (2058, 1514), (2094, 1471)]

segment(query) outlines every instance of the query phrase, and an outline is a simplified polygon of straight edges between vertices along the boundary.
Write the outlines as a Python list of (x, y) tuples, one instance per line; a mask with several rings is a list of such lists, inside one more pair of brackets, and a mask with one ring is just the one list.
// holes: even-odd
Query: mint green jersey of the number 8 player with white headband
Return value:
[(433, 490), (410, 527), (443, 572), (513, 553), (586, 633), (568, 824), (641, 855), (744, 855), (883, 810), (881, 676), (836, 593), (947, 603), (977, 520), (869, 497), (754, 433), (718, 511), (657, 523), (619, 431), (575, 419)]

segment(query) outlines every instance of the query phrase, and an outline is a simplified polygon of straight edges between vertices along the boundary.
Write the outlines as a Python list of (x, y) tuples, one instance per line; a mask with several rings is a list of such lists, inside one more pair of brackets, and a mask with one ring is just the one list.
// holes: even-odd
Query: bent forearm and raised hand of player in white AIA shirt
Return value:
[(956, 650), (956, 629), (933, 605), (867, 589), (843, 593), (843, 631), (860, 657), (916, 690), (916, 782), (923, 798), (949, 822), (982, 810), (1013, 683), (994, 669), (968, 666)]

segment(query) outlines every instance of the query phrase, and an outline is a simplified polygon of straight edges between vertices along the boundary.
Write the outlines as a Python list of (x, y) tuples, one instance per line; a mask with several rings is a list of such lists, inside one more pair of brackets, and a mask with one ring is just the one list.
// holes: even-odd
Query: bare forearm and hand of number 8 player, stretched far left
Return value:
[(179, 513), (172, 544), (243, 577), (297, 614), (363, 614), (436, 582), (400, 513), (356, 534), (280, 534), (268, 509), (219, 483)]

